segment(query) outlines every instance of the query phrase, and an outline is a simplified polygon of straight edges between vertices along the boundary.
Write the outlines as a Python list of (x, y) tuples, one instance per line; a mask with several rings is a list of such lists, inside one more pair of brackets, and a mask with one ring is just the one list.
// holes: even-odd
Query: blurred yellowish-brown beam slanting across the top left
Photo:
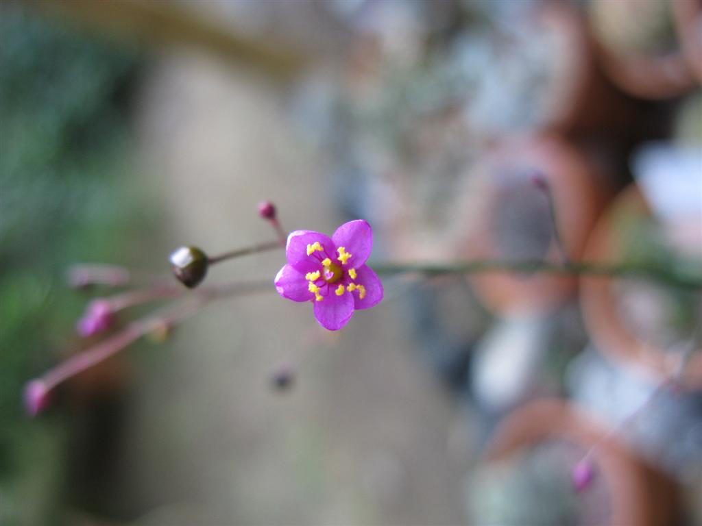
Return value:
[(166, 0), (28, 0), (47, 13), (68, 16), (88, 29), (147, 45), (198, 46), (276, 79), (294, 76), (309, 58), (282, 43), (237, 34), (215, 18)]

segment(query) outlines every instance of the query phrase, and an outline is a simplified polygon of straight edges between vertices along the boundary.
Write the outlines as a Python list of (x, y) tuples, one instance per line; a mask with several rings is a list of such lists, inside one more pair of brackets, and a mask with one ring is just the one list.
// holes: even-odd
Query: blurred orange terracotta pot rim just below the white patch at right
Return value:
[[(650, 217), (651, 210), (640, 189), (632, 185), (623, 190), (600, 219), (592, 233), (583, 259), (588, 262), (616, 263), (621, 261), (621, 243), (616, 241), (614, 220), (618, 214)], [(635, 367), (656, 381), (668, 378), (677, 367), (677, 359), (660, 346), (645, 342), (630, 328), (618, 308), (617, 280), (603, 277), (581, 278), (581, 306), (585, 325), (597, 349), (617, 363)], [(673, 358), (677, 358), (673, 356)], [(702, 387), (702, 353), (691, 355), (681, 378), (684, 386)]]

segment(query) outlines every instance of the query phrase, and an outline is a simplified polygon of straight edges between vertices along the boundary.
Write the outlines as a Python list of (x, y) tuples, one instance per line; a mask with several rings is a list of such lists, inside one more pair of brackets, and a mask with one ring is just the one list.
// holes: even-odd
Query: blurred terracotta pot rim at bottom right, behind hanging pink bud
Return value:
[[(547, 440), (563, 440), (590, 457), (595, 477), (609, 496), (607, 525), (669, 526), (677, 514), (677, 485), (635, 457), (595, 420), (562, 400), (539, 400), (510, 414), (498, 426), (486, 463)], [(585, 490), (588, 491), (588, 490)]]

